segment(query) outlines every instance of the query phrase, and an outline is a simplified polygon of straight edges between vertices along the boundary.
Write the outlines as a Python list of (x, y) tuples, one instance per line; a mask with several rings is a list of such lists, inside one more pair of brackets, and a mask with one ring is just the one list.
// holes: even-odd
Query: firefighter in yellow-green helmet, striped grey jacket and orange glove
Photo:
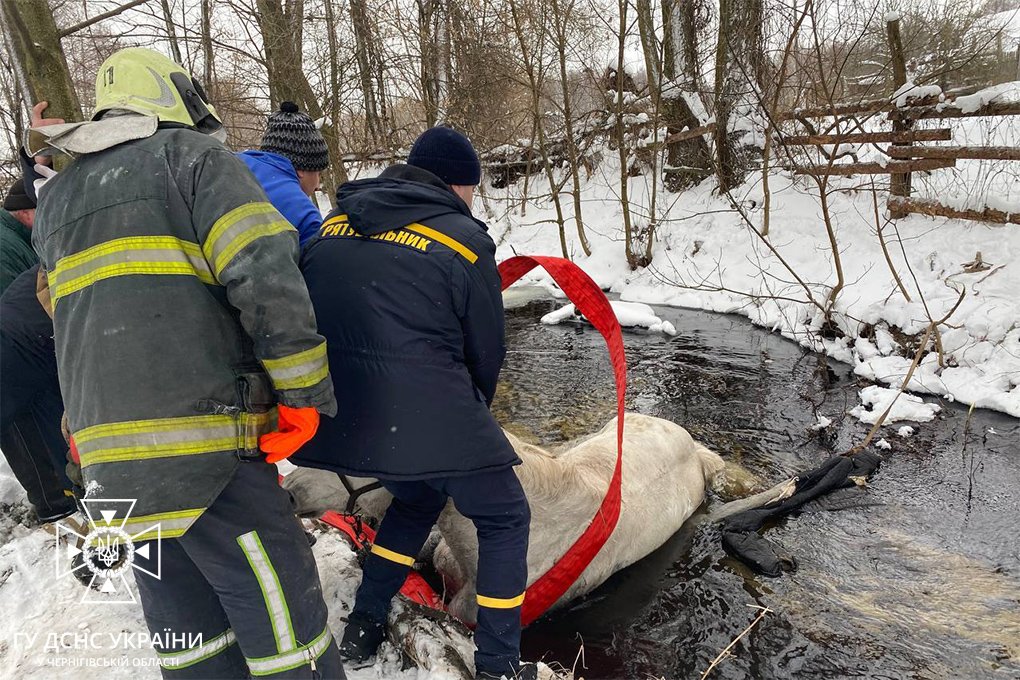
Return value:
[(180, 65), (117, 52), (96, 102), (92, 121), (34, 132), (75, 156), (43, 189), (33, 241), (90, 515), (158, 574), (136, 580), (164, 677), (344, 678), (311, 551), (259, 450), (277, 405), (302, 415), (301, 436), (310, 412), (336, 413), (297, 232), (212, 137)]

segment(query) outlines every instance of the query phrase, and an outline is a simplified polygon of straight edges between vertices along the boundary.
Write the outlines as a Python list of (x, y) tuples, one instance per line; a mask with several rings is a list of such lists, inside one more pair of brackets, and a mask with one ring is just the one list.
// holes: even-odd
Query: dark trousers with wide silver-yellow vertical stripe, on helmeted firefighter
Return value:
[(242, 462), (159, 552), (159, 579), (136, 573), (164, 678), (345, 678), (315, 560), (275, 465)]

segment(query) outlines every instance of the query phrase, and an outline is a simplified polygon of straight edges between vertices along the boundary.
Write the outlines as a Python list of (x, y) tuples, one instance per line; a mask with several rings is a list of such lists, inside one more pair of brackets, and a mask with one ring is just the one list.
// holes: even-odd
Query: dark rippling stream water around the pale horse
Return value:
[[(496, 410), (546, 443), (602, 426), (613, 383), (590, 327), (543, 326), (555, 305), (508, 312)], [(736, 317), (660, 309), (675, 337), (626, 332), (628, 409), (680, 423), (774, 482), (845, 451), (867, 428), (846, 415), (863, 386), (847, 365)], [(932, 401), (932, 398), (927, 398)], [(816, 414), (832, 425), (812, 431)], [(667, 544), (524, 636), (529, 659), (594, 678), (701, 678), (757, 616), (772, 613), (711, 678), (1020, 678), (1020, 421), (942, 403), (883, 428), (870, 487), (785, 519), (767, 535), (797, 573), (757, 576), (688, 522)]]

